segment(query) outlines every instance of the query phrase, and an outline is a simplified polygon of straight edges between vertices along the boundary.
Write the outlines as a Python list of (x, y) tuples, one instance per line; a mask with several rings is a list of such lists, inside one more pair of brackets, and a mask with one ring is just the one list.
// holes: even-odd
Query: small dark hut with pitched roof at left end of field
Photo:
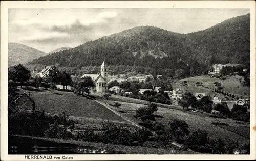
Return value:
[(20, 94), (15, 99), (15, 104), (20, 110), (32, 110), (35, 111), (35, 102), (26, 93)]

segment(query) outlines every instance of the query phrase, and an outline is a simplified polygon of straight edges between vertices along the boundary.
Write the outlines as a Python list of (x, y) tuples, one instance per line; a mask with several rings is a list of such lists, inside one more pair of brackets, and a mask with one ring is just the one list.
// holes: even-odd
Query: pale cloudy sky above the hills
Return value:
[(8, 42), (48, 53), (135, 26), (187, 34), (247, 13), (249, 9), (9, 9)]

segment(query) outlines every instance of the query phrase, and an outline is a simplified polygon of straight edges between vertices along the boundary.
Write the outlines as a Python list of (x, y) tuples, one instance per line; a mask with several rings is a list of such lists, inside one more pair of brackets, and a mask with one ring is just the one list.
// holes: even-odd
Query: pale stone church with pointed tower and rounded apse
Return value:
[(100, 74), (83, 74), (83, 77), (89, 76), (94, 81), (96, 86), (96, 92), (106, 92), (108, 91), (108, 65), (106, 65), (105, 60), (100, 66)]

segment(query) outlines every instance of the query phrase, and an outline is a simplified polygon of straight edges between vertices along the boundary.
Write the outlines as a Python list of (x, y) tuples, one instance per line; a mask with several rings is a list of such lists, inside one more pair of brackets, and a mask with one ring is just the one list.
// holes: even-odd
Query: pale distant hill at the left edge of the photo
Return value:
[(25, 64), (45, 55), (47, 53), (23, 44), (8, 43), (8, 66), (18, 63)]

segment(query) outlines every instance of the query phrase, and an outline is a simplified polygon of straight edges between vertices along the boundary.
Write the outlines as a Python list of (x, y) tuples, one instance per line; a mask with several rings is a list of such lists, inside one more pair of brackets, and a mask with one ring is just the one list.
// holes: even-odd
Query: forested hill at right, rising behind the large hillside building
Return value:
[[(186, 36), (191, 50), (198, 53), (196, 59), (205, 65), (217, 61), (250, 66), (250, 14), (227, 19)], [(211, 56), (216, 60), (210, 59)]]

